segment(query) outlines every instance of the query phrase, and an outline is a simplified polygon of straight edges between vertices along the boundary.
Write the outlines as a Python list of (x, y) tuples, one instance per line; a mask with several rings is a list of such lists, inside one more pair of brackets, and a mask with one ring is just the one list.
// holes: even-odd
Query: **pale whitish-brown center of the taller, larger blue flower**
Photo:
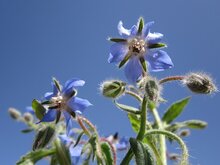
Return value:
[(144, 54), (145, 53), (145, 41), (143, 39), (134, 38), (129, 43), (129, 50), (134, 55)]

